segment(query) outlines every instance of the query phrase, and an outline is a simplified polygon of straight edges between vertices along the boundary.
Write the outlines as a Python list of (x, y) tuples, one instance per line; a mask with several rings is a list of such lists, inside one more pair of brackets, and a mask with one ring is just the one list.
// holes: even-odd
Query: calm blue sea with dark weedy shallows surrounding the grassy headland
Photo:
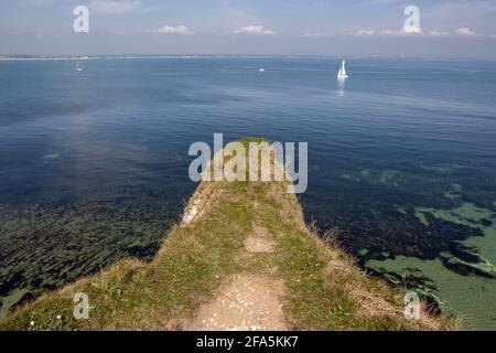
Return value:
[[(362, 266), (496, 329), (496, 64), (334, 58), (0, 62), (0, 315), (151, 258), (192, 142), (308, 141), (308, 220)], [(265, 72), (259, 72), (265, 67)]]

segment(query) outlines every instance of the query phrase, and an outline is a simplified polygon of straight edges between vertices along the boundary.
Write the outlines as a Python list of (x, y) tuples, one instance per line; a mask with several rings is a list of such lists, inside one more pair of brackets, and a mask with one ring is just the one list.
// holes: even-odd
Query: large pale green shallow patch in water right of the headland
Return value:
[[(461, 186), (453, 186), (459, 192)], [(459, 240), (464, 252), (441, 252), (434, 260), (397, 256), (369, 260), (366, 267), (386, 276), (401, 287), (402, 274), (410, 279), (408, 287), (433, 298), (446, 312), (456, 312), (466, 329), (494, 329), (496, 312), (496, 225), (495, 213), (474, 203), (463, 203), (451, 210), (417, 207), (418, 222), (429, 226), (443, 221), (479, 232), (479, 236)]]

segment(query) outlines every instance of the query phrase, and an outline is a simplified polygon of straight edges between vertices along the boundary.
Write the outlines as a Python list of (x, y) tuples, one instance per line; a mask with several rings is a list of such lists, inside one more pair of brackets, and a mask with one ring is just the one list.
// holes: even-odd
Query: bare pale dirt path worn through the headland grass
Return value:
[[(245, 239), (245, 252), (272, 253), (274, 245), (267, 231), (256, 227), (255, 233)], [(214, 301), (200, 308), (190, 330), (288, 330), (281, 303), (283, 290), (282, 281), (265, 274), (236, 275)]]

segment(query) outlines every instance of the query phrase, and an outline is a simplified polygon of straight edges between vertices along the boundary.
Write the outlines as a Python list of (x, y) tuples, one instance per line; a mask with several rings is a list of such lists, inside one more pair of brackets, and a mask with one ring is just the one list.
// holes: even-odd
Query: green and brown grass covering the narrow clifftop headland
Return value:
[[(282, 280), (283, 311), (292, 329), (451, 328), (427, 313), (421, 321), (403, 319), (399, 293), (365, 276), (338, 248), (311, 233), (284, 183), (202, 183), (193, 199), (200, 200), (203, 213), (174, 226), (152, 263), (119, 261), (20, 308), (0, 330), (182, 329), (240, 272)], [(274, 253), (244, 252), (242, 240), (257, 228), (266, 231)], [(76, 292), (89, 297), (88, 320), (73, 317)]]

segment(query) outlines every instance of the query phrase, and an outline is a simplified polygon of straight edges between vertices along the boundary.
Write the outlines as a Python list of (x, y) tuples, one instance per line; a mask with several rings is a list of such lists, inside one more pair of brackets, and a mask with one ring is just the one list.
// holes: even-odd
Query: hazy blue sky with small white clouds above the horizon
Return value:
[[(88, 33), (73, 29), (77, 6), (89, 11)], [(410, 30), (408, 6), (419, 9)], [(2, 54), (494, 61), (496, 0), (1, 0)]]

